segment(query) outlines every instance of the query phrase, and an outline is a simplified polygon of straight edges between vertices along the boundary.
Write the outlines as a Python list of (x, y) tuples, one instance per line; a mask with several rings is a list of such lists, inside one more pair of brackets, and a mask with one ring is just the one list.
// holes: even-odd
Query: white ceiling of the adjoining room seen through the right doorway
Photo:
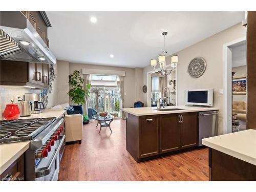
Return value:
[(246, 65), (246, 42), (232, 47), (232, 67)]

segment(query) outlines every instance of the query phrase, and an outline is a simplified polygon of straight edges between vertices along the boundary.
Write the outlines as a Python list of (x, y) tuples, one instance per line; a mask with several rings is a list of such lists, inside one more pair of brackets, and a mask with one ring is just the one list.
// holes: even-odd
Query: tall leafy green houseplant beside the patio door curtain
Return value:
[[(71, 97), (71, 101), (77, 105), (86, 105), (87, 99), (90, 97), (91, 84), (86, 84), (86, 89), (84, 89), (84, 79), (80, 75), (80, 71), (75, 70), (73, 74), (69, 75), (69, 84), (71, 86), (68, 92)], [(84, 109), (87, 114), (87, 106)]]

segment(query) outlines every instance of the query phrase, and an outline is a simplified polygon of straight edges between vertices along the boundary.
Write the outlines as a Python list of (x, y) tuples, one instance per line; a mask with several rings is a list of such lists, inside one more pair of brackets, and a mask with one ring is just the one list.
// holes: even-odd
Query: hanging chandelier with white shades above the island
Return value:
[[(165, 48), (165, 36), (167, 35), (167, 32), (166, 31), (163, 32), (162, 35), (164, 36), (164, 51), (162, 52), (163, 53), (162, 55), (158, 56), (158, 63), (159, 63), (159, 66), (160, 66), (160, 71), (157, 70), (157, 73), (159, 75), (168, 75), (168, 74), (170, 74), (170, 72), (172, 72), (174, 69), (176, 69), (176, 66), (178, 64), (178, 56), (174, 55), (171, 58), (170, 67), (172, 67), (173, 69), (172, 70), (166, 70), (165, 55), (166, 55), (166, 53), (168, 53), (168, 51)], [(151, 59), (151, 66), (155, 70), (155, 68), (157, 66), (157, 59)]]

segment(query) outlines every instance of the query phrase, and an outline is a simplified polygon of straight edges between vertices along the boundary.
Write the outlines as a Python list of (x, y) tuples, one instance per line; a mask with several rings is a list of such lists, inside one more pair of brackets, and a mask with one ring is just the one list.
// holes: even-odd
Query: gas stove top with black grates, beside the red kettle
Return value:
[(32, 140), (55, 120), (56, 117), (0, 121), (0, 144), (4, 142)]

